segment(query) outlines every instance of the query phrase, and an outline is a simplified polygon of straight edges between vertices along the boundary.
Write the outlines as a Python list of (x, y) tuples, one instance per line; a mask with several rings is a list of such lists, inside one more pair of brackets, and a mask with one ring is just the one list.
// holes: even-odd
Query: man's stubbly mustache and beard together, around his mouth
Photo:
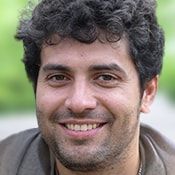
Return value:
[[(115, 118), (111, 113), (108, 112), (92, 112), (86, 111), (82, 114), (75, 114), (68, 110), (59, 111), (51, 116), (45, 116), (44, 112), (37, 108), (37, 118), (39, 128), (41, 130), (42, 136), (49, 148), (54, 153), (57, 160), (61, 162), (63, 166), (72, 170), (79, 172), (92, 172), (97, 170), (103, 170), (105, 167), (111, 166), (112, 164), (124, 161), (127, 158), (127, 151), (130, 142), (136, 135), (138, 127), (138, 113), (136, 110), (126, 111), (122, 116), (125, 118), (123, 120), (122, 126), (120, 128), (120, 134), (113, 134), (113, 137), (106, 137), (100, 146), (97, 146), (92, 150), (85, 149), (86, 155), (82, 157), (82, 148), (84, 146), (88, 147), (88, 141), (76, 141), (74, 143), (74, 150), (71, 152), (66, 148), (66, 140), (60, 139), (59, 133), (56, 131), (56, 125), (62, 119), (79, 118), (83, 117), (85, 119), (92, 119), (92, 116), (97, 119), (98, 117), (103, 118), (109, 123), (109, 130), (112, 128)], [(48, 118), (47, 118), (48, 117)], [(130, 117), (135, 117), (136, 121), (132, 127), (130, 127)], [(48, 128), (46, 122), (52, 124), (51, 128)]]

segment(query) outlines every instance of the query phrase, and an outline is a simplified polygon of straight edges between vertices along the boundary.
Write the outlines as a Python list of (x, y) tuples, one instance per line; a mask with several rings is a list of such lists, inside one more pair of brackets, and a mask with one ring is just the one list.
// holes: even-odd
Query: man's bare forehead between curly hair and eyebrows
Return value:
[(41, 50), (41, 66), (64, 64), (72, 68), (85, 68), (93, 64), (112, 63), (124, 69), (135, 69), (124, 39), (115, 43), (95, 41), (91, 44), (64, 39), (56, 45), (43, 45)]

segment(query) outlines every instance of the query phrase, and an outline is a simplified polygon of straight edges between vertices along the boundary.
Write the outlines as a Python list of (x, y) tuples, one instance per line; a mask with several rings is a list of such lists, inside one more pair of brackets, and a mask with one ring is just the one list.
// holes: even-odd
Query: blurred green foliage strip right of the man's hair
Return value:
[(175, 102), (175, 1), (158, 0), (157, 16), (165, 32), (165, 55), (160, 91)]

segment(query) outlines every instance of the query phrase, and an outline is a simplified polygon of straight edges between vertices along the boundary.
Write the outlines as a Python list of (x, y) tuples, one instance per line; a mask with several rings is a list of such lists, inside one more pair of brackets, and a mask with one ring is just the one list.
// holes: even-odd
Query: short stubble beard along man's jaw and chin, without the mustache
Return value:
[[(127, 115), (129, 116), (130, 114)], [(59, 139), (59, 136), (55, 134), (57, 133), (56, 131), (52, 130), (52, 133), (47, 132), (48, 129), (43, 127), (42, 121), (45, 117), (41, 111), (37, 112), (38, 123), (43, 138), (54, 153), (56, 159), (69, 170), (78, 172), (104, 170), (106, 167), (112, 166), (113, 164), (120, 164), (121, 161), (125, 161), (124, 159), (127, 159), (128, 154), (126, 148), (128, 148), (130, 142), (136, 135), (138, 126), (138, 122), (136, 122), (132, 128), (126, 127), (129, 122), (127, 120), (128, 116), (124, 116), (126, 117), (126, 120), (123, 123), (124, 129), (122, 133), (120, 133), (120, 136), (117, 136), (117, 140), (111, 141), (106, 138), (95, 152), (87, 152), (87, 155), (81, 156), (81, 154), (79, 154), (79, 149), (74, 150), (76, 154), (72, 154), (70, 151), (66, 150), (65, 143), (63, 143)]]

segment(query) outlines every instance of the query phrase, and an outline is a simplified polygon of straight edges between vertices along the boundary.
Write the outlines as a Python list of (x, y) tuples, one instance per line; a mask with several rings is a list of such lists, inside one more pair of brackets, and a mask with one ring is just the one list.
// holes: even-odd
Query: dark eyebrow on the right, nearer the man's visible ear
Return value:
[(100, 70), (111, 70), (121, 72), (123, 75), (127, 75), (125, 70), (121, 68), (118, 64), (101, 64), (101, 65), (92, 65), (89, 67), (89, 71), (100, 71)]

